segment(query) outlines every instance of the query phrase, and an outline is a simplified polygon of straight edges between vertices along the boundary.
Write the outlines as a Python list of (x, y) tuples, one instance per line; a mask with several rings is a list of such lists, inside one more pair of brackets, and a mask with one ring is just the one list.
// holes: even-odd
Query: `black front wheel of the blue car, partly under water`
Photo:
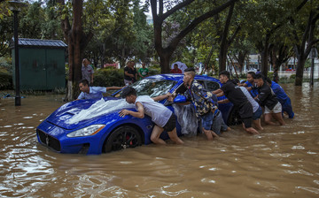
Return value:
[(125, 148), (135, 148), (142, 145), (142, 137), (138, 131), (131, 126), (121, 126), (105, 142), (105, 153)]

